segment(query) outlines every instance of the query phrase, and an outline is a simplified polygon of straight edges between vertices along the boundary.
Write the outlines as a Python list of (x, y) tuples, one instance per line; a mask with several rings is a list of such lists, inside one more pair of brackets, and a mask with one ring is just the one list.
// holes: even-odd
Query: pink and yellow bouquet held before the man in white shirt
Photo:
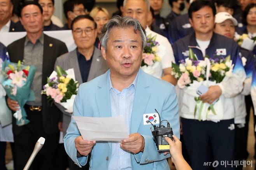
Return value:
[(151, 36), (151, 34), (149, 34), (142, 55), (141, 68), (143, 71), (148, 74), (154, 73), (154, 69), (160, 64), (161, 57), (165, 55), (165, 53), (163, 54), (161, 51), (163, 51), (163, 47), (156, 42), (156, 35)]

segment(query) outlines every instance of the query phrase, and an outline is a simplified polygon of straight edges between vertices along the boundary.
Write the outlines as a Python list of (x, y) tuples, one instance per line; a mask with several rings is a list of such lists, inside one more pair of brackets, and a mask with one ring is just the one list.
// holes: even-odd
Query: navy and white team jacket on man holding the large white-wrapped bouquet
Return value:
[[(203, 54), (196, 43), (195, 33), (188, 35), (172, 45), (174, 51), (175, 62), (178, 64), (179, 61), (185, 60), (189, 56), (189, 48), (193, 50), (199, 60), (203, 60)], [(205, 50), (205, 54), (209, 57), (227, 57), (230, 56), (234, 67), (233, 76), (225, 78), (225, 81), (219, 83), (219, 87), (222, 90), (222, 98), (224, 106), (224, 116), (223, 120), (232, 119), (235, 117), (235, 108), (233, 103), (233, 97), (238, 95), (243, 89), (243, 82), (245, 80), (245, 70), (242, 64), (241, 56), (239, 55), (239, 46), (237, 43), (225, 36), (213, 33), (210, 40), (210, 44)], [(182, 97), (182, 96), (181, 96)], [(181, 101), (181, 99), (180, 99)], [(183, 106), (181, 106), (183, 107)], [(182, 109), (180, 115), (182, 118), (193, 119), (193, 113), (189, 113), (188, 109)], [(189, 114), (188, 114), (189, 113)]]

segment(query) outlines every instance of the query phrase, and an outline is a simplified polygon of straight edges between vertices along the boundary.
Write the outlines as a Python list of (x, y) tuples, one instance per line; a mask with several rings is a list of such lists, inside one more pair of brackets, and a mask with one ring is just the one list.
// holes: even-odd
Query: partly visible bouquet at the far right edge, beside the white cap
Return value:
[(237, 33), (235, 33), (235, 41), (238, 43), (238, 45), (244, 49), (247, 49), (247, 50), (253, 50), (256, 42), (256, 37), (253, 37), (253, 38), (250, 38), (248, 36), (248, 34), (242, 34), (242, 35), (239, 35)]

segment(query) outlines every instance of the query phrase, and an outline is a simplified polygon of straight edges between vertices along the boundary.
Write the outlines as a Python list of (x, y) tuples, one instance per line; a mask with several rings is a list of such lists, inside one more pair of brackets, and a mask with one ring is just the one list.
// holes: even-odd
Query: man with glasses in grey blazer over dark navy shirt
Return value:
[[(79, 84), (89, 82), (93, 78), (105, 73), (108, 69), (101, 51), (94, 47), (97, 37), (96, 28), (97, 25), (91, 16), (81, 15), (76, 17), (71, 23), (71, 29), (77, 49), (63, 54), (58, 57), (55, 62), (55, 67), (60, 66), (65, 70), (74, 68), (75, 80), (77, 80)], [(62, 112), (62, 130), (64, 133), (63, 136), (65, 136), (71, 120), (71, 114), (64, 110)], [(70, 170), (79, 168), (69, 157), (68, 164)], [(83, 168), (89, 169), (89, 165)]]

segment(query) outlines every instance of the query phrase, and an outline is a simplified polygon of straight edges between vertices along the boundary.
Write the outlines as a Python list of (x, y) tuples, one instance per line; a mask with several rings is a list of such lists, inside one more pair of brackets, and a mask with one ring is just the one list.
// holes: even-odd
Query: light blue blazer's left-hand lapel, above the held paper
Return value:
[[(98, 89), (96, 91), (96, 104), (100, 117), (111, 117), (110, 94), (109, 94), (109, 74), (108, 70), (100, 79)], [(112, 149), (112, 143), (109, 142), (109, 147)]]

